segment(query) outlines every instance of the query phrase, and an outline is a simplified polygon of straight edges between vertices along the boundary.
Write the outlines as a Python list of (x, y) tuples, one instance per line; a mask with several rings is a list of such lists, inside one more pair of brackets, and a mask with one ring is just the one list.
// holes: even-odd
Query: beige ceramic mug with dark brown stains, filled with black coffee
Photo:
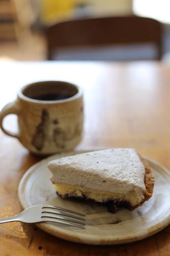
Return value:
[[(3, 126), (9, 114), (18, 117), (18, 133)], [(4, 133), (17, 138), (32, 153), (48, 155), (74, 148), (82, 139), (83, 92), (75, 84), (41, 81), (28, 84), (0, 113)]]

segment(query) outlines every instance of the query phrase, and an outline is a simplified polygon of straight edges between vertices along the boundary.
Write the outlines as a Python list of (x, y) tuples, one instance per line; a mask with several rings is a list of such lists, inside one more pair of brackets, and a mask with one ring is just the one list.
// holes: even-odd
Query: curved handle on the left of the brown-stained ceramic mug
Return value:
[(9, 114), (15, 114), (17, 116), (19, 115), (19, 108), (18, 108), (18, 101), (17, 100), (14, 100), (14, 101), (6, 104), (4, 106), (4, 108), (2, 109), (2, 111), (0, 112), (0, 127), (1, 127), (2, 131), (5, 134), (19, 139), (20, 138), (19, 132), (18, 133), (12, 133), (10, 131), (7, 131), (3, 126), (3, 119), (4, 119), (5, 116), (7, 116)]

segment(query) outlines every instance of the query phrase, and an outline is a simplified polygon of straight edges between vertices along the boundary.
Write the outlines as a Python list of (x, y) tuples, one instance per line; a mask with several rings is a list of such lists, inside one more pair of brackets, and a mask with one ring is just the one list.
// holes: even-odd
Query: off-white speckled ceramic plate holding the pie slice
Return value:
[(86, 229), (54, 223), (38, 223), (39, 228), (65, 240), (106, 245), (147, 238), (170, 223), (170, 172), (148, 158), (155, 175), (154, 193), (148, 202), (133, 211), (119, 209), (116, 214), (110, 214), (105, 206), (59, 198), (46, 165), (50, 160), (74, 154), (54, 155), (33, 165), (19, 183), (18, 196), (23, 209), (47, 203), (83, 212), (87, 215)]

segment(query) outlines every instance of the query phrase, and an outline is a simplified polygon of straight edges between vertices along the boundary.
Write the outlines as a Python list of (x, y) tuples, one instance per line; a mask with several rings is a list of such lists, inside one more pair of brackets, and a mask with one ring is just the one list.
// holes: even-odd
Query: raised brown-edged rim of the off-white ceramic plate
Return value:
[[(88, 149), (84, 149), (84, 150), (77, 150), (77, 151), (71, 151), (71, 152), (65, 152), (65, 153), (59, 153), (59, 154), (54, 154), (52, 156), (48, 156), (42, 160), (40, 160), (39, 162), (33, 164), (30, 168), (27, 169), (26, 173), (23, 174), (23, 176), (21, 177), (20, 181), (19, 181), (19, 185), (18, 185), (18, 199), (19, 199), (19, 204), (21, 206), (22, 209), (26, 209), (28, 206), (27, 201), (25, 198), (25, 194), (22, 193), (22, 191), (25, 190), (25, 186), (27, 181), (29, 180), (29, 177), (32, 175), (32, 173), (35, 172), (36, 167), (40, 164), (43, 164), (43, 162), (50, 161), (51, 158), (54, 158), (54, 156), (58, 156), (58, 155), (67, 155), (67, 154), (72, 154), (72, 153), (85, 153), (85, 152), (89, 152), (89, 151), (94, 151), (94, 150), (100, 150), (101, 148), (88, 148)], [(157, 161), (153, 160), (150, 157), (144, 156), (145, 159), (147, 159), (149, 161), (150, 164), (154, 164), (155, 166), (157, 166), (158, 168), (162, 169), (163, 172), (166, 173), (166, 175), (168, 175), (170, 177), (170, 171), (164, 167), (163, 165), (161, 165), (160, 163), (158, 163)], [(160, 221), (159, 223), (151, 226), (150, 228), (146, 228), (144, 230), (138, 230), (136, 232), (125, 234), (123, 236), (118, 236), (118, 237), (114, 237), (111, 234), (108, 235), (96, 235), (96, 234), (86, 234), (86, 233), (81, 233), (81, 238), (80, 238), (80, 234), (78, 235), (75, 231), (70, 231), (70, 230), (65, 230), (63, 228), (60, 227), (56, 227), (53, 228), (52, 225), (50, 225), (49, 228), (49, 224), (47, 223), (34, 223), (34, 225), (36, 225), (37, 227), (39, 227), (40, 229), (42, 229), (43, 231), (52, 234), (55, 237), (64, 239), (64, 240), (68, 240), (71, 242), (77, 242), (77, 243), (83, 243), (83, 244), (93, 244), (93, 245), (113, 245), (113, 244), (125, 244), (125, 243), (131, 243), (131, 242), (135, 242), (135, 241), (139, 241), (142, 240), (144, 238), (148, 238), (150, 236), (152, 236), (153, 234), (161, 231), (163, 228), (165, 228), (166, 226), (168, 226), (168, 224), (170, 224), (170, 212), (169, 215), (163, 219), (162, 221)], [(149, 231), (148, 231), (149, 229)]]

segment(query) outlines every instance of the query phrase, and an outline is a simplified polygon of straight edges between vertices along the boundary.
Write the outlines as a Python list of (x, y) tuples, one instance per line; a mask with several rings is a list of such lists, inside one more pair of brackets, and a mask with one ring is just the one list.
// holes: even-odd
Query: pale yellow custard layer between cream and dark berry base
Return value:
[(130, 202), (131, 206), (135, 206), (140, 203), (140, 199), (136, 197), (134, 191), (130, 191), (126, 194), (120, 194), (64, 183), (56, 183), (54, 184), (54, 187), (57, 193), (62, 197), (86, 197), (87, 199), (92, 199), (101, 203), (111, 200), (126, 200)]

